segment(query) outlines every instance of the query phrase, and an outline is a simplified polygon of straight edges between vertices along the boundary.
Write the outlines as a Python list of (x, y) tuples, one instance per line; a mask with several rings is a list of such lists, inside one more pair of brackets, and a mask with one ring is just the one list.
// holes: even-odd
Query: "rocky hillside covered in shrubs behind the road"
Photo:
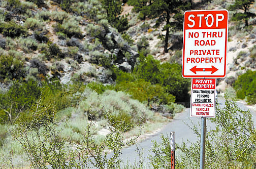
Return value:
[[(162, 128), (190, 99), (190, 79), (181, 76), (184, 11), (229, 9), (235, 4), (177, 1), (166, 20), (167, 11), (148, 10), (154, 1), (114, 2), (0, 1), (1, 167), (28, 165), (28, 158), (35, 158), (24, 155), (29, 146), (23, 138), (33, 144), (34, 137), (51, 139), (53, 132), (63, 149), (77, 150), (91, 141), (87, 146), (99, 153), (101, 145), (103, 153), (111, 152), (105, 139), (113, 131), (118, 137), (123, 134), (115, 141), (122, 143)], [(255, 9), (252, 3), (249, 11)], [(244, 19), (234, 19), (239, 12), (243, 10), (229, 11), (228, 72), (217, 80), (221, 95), (234, 84), (240, 90), (240, 75), (256, 70), (256, 18), (249, 17), (245, 26)], [(253, 105), (250, 91), (239, 96)], [(49, 159), (43, 160), (49, 164)]]

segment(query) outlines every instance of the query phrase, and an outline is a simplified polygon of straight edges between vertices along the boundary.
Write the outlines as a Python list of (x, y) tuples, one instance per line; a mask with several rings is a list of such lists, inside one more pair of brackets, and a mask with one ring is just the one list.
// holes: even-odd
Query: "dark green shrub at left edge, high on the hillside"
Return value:
[(0, 23), (0, 32), (3, 33), (4, 36), (19, 37), (20, 35), (26, 34), (26, 29), (11, 21), (9, 23)]

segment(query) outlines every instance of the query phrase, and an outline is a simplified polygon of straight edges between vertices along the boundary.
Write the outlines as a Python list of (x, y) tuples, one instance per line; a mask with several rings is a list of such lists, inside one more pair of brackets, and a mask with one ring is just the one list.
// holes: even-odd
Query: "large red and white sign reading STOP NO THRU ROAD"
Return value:
[(183, 25), (184, 78), (226, 76), (227, 10), (186, 11)]

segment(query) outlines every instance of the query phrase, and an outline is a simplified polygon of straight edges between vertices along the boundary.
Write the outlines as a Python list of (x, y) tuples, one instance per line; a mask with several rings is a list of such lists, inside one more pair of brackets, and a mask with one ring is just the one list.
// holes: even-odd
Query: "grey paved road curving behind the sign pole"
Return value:
[[(223, 99), (218, 99), (218, 102), (221, 107), (224, 106), (224, 100)], [(238, 103), (239, 107), (242, 108), (243, 110), (248, 110), (248, 108), (243, 105), (242, 103)], [(254, 119), (254, 124), (256, 125), (256, 113), (254, 111), (251, 111)], [(198, 140), (197, 136), (188, 128), (188, 126), (185, 123), (191, 124), (191, 121), (193, 123), (198, 124), (199, 129), (201, 125), (201, 118), (199, 117), (189, 117), (189, 108), (186, 108), (185, 111), (182, 113), (178, 113), (175, 115), (174, 119), (172, 122), (167, 124), (163, 131), (151, 136), (147, 140), (141, 142), (138, 144), (138, 147), (141, 149), (141, 152), (143, 153), (143, 158), (145, 162), (148, 161), (147, 157), (151, 153), (149, 150), (151, 149), (152, 146), (152, 140), (161, 142), (161, 134), (164, 134), (165, 136), (169, 135), (171, 131), (175, 132), (175, 142), (178, 144), (181, 144), (183, 141), (186, 142), (186, 140), (189, 140), (190, 142), (195, 142)], [(214, 125), (207, 120), (206, 122), (207, 129), (212, 129), (214, 128)], [(176, 153), (177, 154), (177, 153)], [(124, 162), (129, 161), (129, 163), (134, 163), (135, 161), (138, 161), (138, 155), (136, 152), (136, 146), (133, 145), (129, 148), (126, 148), (122, 151), (121, 158), (123, 159)]]

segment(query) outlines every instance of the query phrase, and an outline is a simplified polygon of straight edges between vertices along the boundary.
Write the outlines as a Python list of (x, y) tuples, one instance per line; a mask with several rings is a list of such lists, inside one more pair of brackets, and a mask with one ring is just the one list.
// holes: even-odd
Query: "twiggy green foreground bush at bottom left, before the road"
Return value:
[[(47, 168), (49, 165), (53, 168), (120, 168), (121, 149), (134, 144), (138, 138), (136, 136), (124, 141), (124, 132), (129, 130), (130, 126), (120, 122), (112, 128), (110, 112), (105, 111), (105, 123), (110, 133), (105, 137), (95, 137), (93, 132), (95, 124), (88, 121), (84, 124), (85, 132), (78, 146), (61, 138), (63, 128), (59, 128), (55, 118), (49, 118), (48, 107), (42, 105), (40, 100), (31, 109), (33, 109), (31, 123), (16, 125), (11, 133), (28, 156), (30, 166), (34, 168)], [(104, 153), (106, 149), (113, 154), (107, 157), (107, 153)]]

